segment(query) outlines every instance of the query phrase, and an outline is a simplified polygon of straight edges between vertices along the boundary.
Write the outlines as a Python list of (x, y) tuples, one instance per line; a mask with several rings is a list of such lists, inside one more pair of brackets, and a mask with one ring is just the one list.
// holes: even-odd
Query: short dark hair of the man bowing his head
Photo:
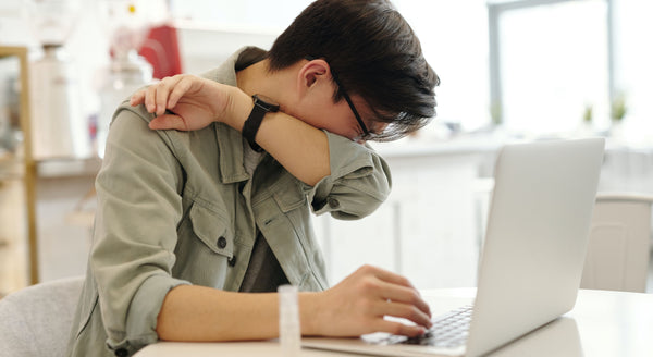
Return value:
[[(356, 34), (356, 36), (352, 36)], [(385, 0), (319, 0), (304, 10), (268, 53), (272, 71), (307, 56), (322, 58), (337, 78), (334, 100), (361, 96), (389, 123), (375, 140), (393, 140), (435, 115), (440, 79), (408, 23)]]

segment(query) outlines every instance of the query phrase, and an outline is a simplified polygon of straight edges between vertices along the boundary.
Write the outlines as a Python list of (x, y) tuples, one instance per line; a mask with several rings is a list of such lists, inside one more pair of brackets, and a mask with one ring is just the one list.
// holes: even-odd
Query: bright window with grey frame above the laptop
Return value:
[(595, 124), (608, 124), (606, 0), (525, 0), (488, 9), (491, 101), (507, 130), (572, 132), (589, 107)]

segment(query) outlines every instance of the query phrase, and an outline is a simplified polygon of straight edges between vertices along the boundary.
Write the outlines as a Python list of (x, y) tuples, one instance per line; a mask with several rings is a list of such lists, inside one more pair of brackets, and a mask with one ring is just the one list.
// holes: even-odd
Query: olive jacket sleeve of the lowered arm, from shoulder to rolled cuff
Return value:
[(133, 352), (156, 342), (165, 294), (188, 284), (171, 275), (182, 169), (165, 133), (148, 128), (148, 115), (138, 108), (118, 110), (96, 180), (89, 263), (111, 349)]

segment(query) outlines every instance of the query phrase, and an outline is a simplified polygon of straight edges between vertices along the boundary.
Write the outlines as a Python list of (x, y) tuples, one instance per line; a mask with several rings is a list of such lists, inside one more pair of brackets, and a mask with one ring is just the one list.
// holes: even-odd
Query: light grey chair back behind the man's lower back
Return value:
[(36, 284), (0, 299), (0, 355), (63, 356), (84, 278)]

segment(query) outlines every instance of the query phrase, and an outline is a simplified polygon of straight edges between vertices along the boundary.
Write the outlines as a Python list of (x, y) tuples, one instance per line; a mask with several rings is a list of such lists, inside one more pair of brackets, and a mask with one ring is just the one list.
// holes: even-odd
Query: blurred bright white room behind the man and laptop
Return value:
[[(269, 48), (310, 2), (3, 0), (0, 294), (84, 273), (93, 181), (121, 100), (242, 46)], [(369, 262), (423, 288), (473, 285), (506, 143), (604, 136), (600, 190), (653, 193), (653, 2), (393, 3), (441, 77), (438, 116), (375, 145), (395, 182), (377, 213), (316, 218), (332, 282)]]

